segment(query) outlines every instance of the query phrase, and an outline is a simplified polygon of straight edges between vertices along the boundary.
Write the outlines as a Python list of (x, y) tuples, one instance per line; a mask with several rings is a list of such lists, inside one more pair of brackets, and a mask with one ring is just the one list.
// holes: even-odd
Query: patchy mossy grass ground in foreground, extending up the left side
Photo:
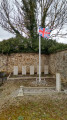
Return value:
[(26, 84), (12, 80), (0, 86), (0, 120), (67, 120), (66, 94), (17, 97), (15, 91)]

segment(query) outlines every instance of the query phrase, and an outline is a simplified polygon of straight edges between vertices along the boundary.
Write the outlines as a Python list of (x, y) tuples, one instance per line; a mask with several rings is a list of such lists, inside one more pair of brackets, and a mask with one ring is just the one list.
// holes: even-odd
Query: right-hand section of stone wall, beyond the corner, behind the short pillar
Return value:
[(59, 72), (61, 78), (67, 81), (67, 50), (49, 55), (49, 71), (52, 74)]

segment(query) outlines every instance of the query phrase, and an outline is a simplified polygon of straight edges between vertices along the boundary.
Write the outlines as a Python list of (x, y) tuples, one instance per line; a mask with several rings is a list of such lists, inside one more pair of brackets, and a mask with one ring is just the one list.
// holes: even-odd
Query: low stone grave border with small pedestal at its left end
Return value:
[(55, 87), (24, 87), (20, 86), (19, 93), (17, 96), (24, 95), (44, 95), (45, 93), (56, 93)]

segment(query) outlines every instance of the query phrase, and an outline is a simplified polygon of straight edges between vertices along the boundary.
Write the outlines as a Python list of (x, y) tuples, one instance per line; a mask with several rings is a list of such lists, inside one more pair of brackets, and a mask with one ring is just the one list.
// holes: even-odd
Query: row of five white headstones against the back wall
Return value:
[[(39, 66), (37, 66), (37, 74), (39, 74)], [(44, 74), (48, 74), (48, 65), (44, 66)], [(18, 75), (18, 66), (14, 66), (13, 75)], [(26, 66), (22, 66), (22, 75), (26, 75)], [(30, 66), (30, 75), (34, 75), (34, 66)]]

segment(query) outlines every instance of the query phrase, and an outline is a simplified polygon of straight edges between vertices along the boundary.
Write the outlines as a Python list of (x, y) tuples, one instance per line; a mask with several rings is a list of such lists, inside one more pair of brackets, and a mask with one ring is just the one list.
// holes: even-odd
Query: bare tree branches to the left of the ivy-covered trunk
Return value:
[(10, 5), (9, 0), (2, 0), (0, 4), (0, 26), (16, 35), (23, 32), (23, 16)]

